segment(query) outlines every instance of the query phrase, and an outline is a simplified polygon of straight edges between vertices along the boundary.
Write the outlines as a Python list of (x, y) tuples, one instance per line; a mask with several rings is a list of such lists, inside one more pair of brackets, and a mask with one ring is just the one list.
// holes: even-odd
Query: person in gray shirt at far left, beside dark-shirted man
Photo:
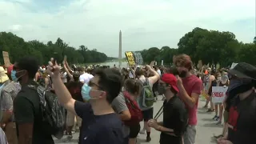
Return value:
[[(9, 66), (7, 69), (7, 75), (10, 80), (12, 80), (8, 85), (2, 89), (0, 107), (3, 112), (3, 117), (1, 123), (4, 123), (6, 138), (10, 144), (17, 144), (18, 138), (16, 134), (16, 126), (14, 122), (13, 114), (13, 104), (14, 98), (17, 96), (18, 92), (21, 90), (21, 85), (17, 82), (15, 77), (15, 65)], [(14, 69), (14, 70), (13, 70)]]

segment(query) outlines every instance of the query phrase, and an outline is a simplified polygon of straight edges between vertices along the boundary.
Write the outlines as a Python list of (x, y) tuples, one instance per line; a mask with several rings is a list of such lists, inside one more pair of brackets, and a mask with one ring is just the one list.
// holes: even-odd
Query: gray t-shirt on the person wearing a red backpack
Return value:
[[(117, 98), (114, 98), (111, 105), (117, 114), (122, 113), (122, 111), (124, 110), (128, 110), (128, 107), (126, 106), (126, 99), (124, 98), (124, 95), (122, 94), (122, 92), (118, 94)], [(122, 131), (123, 131), (124, 138), (126, 138), (130, 134), (129, 126), (122, 125)]]

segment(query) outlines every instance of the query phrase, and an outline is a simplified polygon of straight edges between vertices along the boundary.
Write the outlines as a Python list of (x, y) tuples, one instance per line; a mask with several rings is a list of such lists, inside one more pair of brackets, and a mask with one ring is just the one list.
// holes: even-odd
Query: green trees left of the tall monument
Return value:
[[(63, 59), (65, 55), (70, 63), (106, 62), (114, 59), (98, 52), (97, 49), (90, 50), (84, 45), (76, 49), (63, 42), (61, 38), (46, 44), (38, 40), (25, 42), (23, 38), (10, 32), (0, 32), (0, 51), (9, 52), (10, 62), (15, 62), (26, 55), (34, 55), (40, 64), (47, 64), (52, 57)], [(2, 54), (0, 54), (0, 62), (3, 64)]]

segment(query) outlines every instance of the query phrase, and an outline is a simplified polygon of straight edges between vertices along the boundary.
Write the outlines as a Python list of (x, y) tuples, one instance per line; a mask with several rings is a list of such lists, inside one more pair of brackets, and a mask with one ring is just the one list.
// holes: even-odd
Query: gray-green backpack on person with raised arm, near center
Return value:
[(142, 80), (140, 80), (140, 82), (142, 83), (142, 106), (143, 107), (150, 107), (153, 106), (154, 104), (154, 94), (153, 91), (150, 87), (150, 82), (149, 79), (146, 78), (146, 82), (142, 82)]

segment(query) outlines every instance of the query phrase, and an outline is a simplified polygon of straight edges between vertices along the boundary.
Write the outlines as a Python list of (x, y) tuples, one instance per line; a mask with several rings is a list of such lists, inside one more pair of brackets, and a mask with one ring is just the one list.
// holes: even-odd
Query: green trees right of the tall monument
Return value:
[(247, 62), (256, 65), (256, 37), (251, 43), (238, 42), (235, 35), (229, 31), (206, 30), (199, 27), (186, 33), (178, 42), (178, 48), (162, 46), (151, 47), (141, 51), (143, 61), (152, 60), (166, 65), (173, 62), (176, 54), (190, 55), (194, 66), (202, 60), (210, 66), (230, 66), (232, 62)]

